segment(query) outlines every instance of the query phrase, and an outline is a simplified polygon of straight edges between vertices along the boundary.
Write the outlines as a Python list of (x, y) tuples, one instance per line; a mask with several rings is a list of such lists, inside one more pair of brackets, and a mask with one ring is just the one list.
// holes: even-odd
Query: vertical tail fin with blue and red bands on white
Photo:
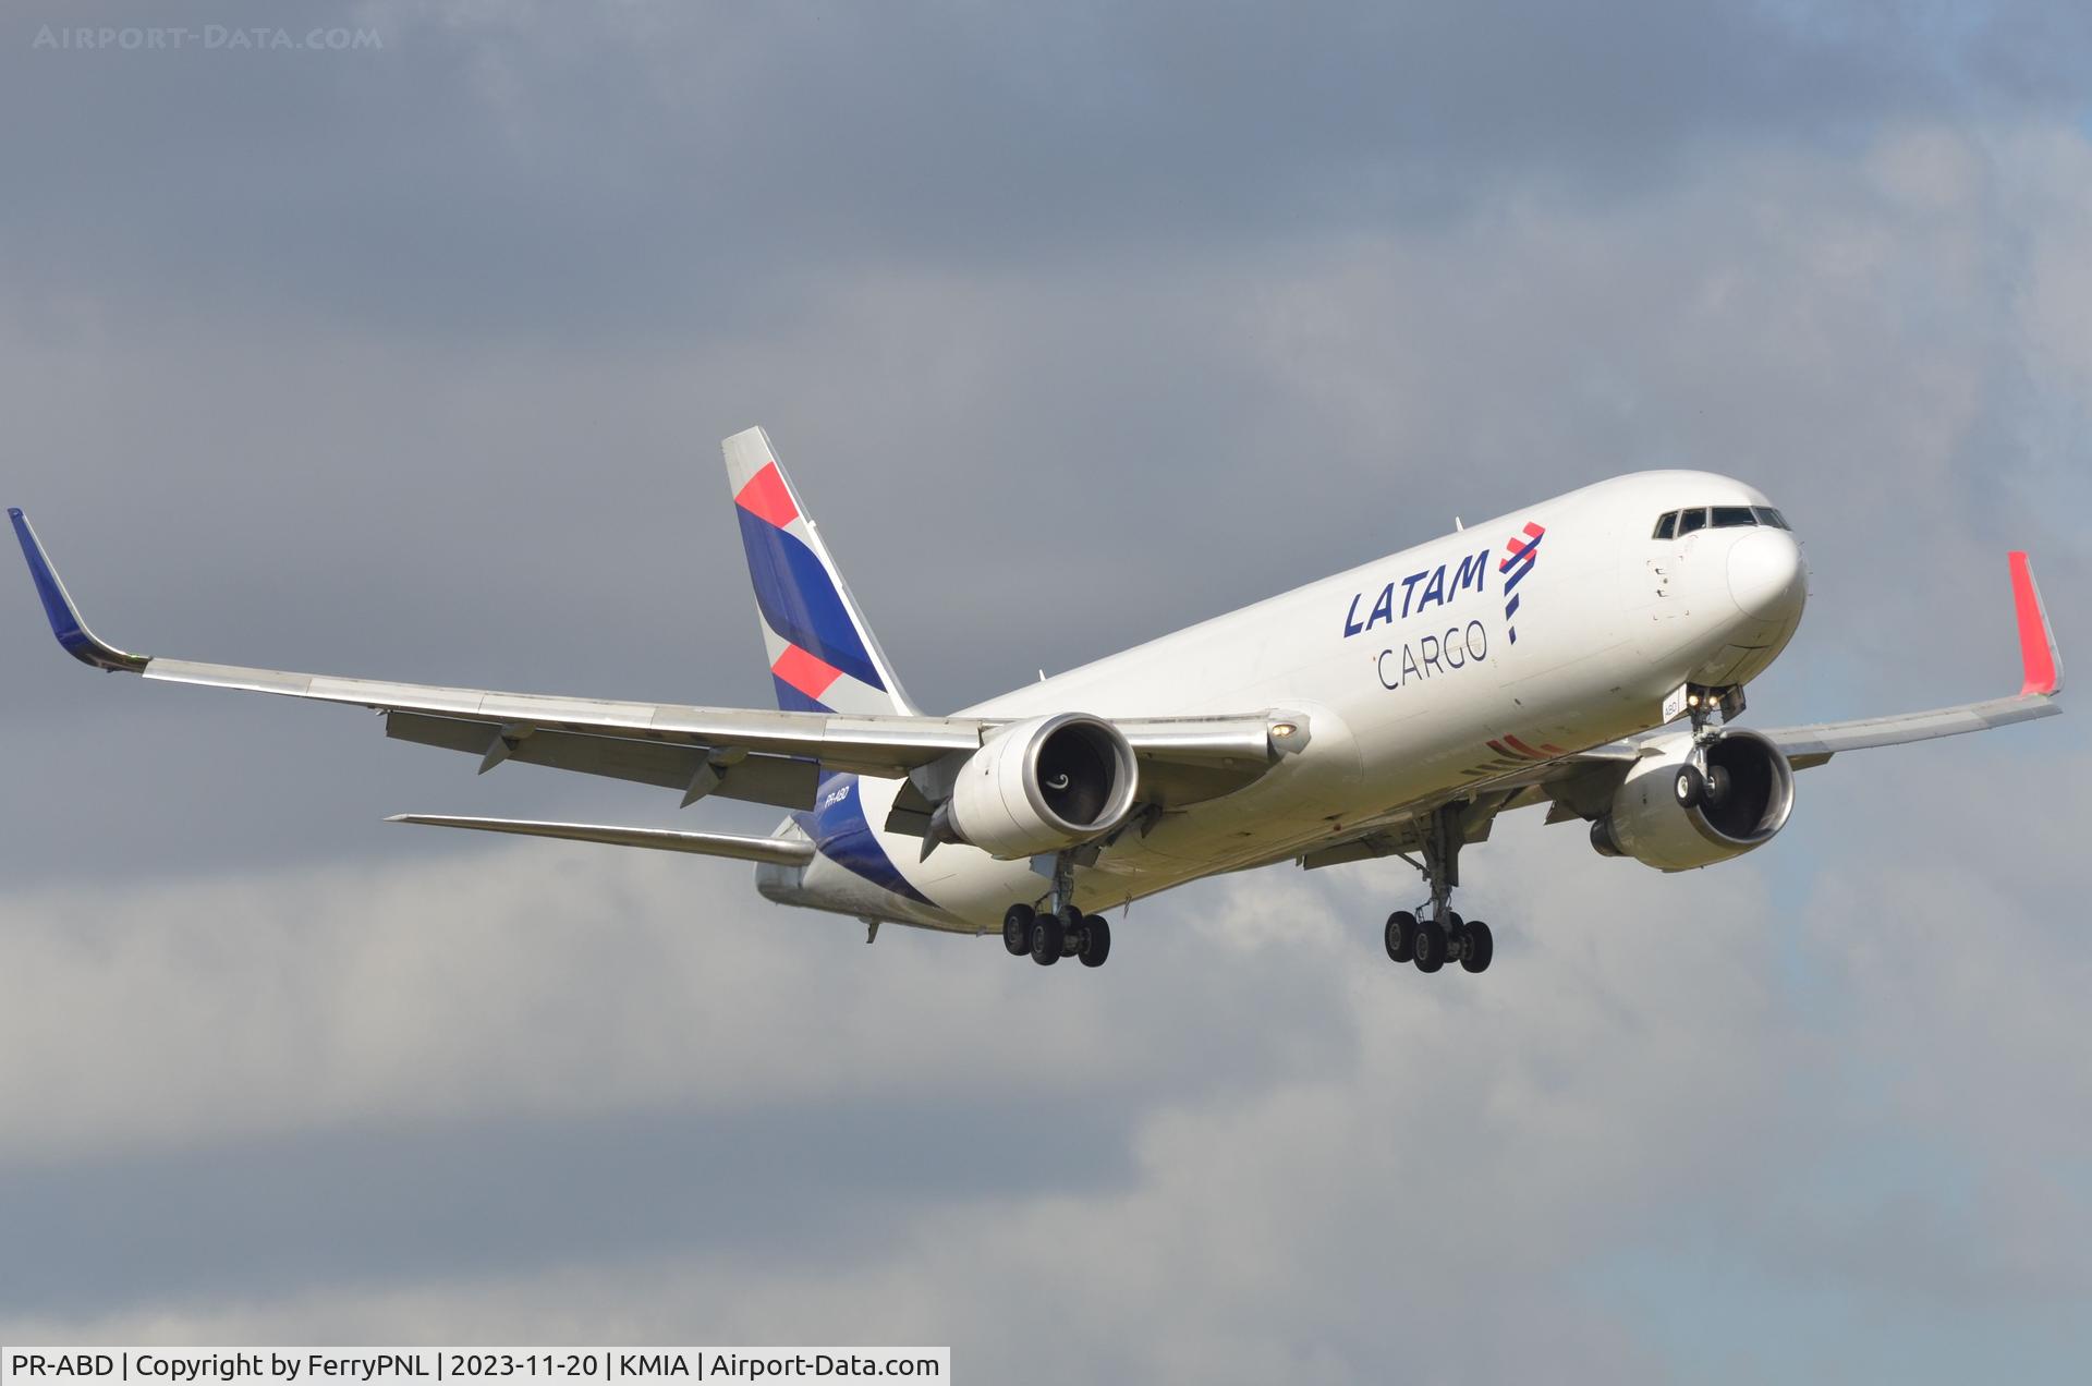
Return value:
[(914, 714), (770, 435), (747, 429), (724, 448), (778, 708)]

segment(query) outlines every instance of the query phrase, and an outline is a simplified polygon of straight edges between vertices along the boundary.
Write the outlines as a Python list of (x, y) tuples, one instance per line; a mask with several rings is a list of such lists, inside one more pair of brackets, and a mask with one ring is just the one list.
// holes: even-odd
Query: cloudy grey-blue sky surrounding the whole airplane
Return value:
[[(2092, 649), (2077, 4), (0, 17), (0, 502), (128, 649), (764, 706), (761, 423), (958, 708), (1619, 471), (1807, 546), (1757, 724)], [(67, 44), (184, 27), (182, 48)], [(50, 29), (52, 42), (40, 42)], [(0, 586), (6, 586), (0, 582)], [(1100, 971), (734, 863), (772, 810), (90, 674), (0, 595), (0, 1340), (931, 1342), (964, 1380), (2073, 1380), (2075, 716), (1701, 873), (1504, 819)]]

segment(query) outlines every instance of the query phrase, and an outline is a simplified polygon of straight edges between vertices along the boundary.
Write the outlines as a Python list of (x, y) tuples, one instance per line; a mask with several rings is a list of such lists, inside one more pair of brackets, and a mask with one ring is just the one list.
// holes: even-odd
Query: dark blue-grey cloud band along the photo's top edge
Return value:
[(0, 86), (10, 124), (65, 132), (0, 165), (46, 281), (546, 339), (734, 335), (895, 264), (1433, 224), (1517, 180), (1640, 195), (1738, 138), (2071, 111), (2086, 48), (2061, 4), (1948, 33), (1644, 2), (364, 6), (381, 52), (33, 48), (69, 19), (21, 15)]

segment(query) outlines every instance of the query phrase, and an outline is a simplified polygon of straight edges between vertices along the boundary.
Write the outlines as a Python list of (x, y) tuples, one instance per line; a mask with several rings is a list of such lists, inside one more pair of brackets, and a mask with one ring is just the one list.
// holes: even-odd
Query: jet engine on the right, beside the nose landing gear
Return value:
[(1590, 844), (1607, 856), (1632, 856), (1659, 871), (1711, 867), (1772, 842), (1795, 808), (1795, 770), (1770, 739), (1755, 731), (1724, 731), (1707, 747), (1705, 791), (1686, 806), (1678, 773), (1688, 764), (1692, 737), (1659, 743), (1628, 770)]

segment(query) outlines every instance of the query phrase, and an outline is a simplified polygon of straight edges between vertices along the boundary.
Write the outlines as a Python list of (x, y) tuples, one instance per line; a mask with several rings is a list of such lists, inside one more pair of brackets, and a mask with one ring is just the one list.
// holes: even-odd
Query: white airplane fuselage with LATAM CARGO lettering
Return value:
[[(994, 697), (967, 712), (1105, 718), (1272, 710), (1310, 743), (1251, 787), (1123, 833), (1075, 877), (1084, 911), (1284, 860), (1404, 806), (1456, 798), (1508, 760), (1582, 752), (1663, 722), (1684, 683), (1743, 685), (1801, 620), (1805, 569), (1778, 528), (1653, 538), (1680, 507), (1766, 507), (1741, 482), (1648, 471), (1466, 526), (1270, 601)], [(1533, 542), (1525, 555), (1515, 553)], [(1515, 609), (1508, 611), (1506, 607)], [(1494, 745), (1492, 745), (1494, 743)], [(887, 833), (902, 781), (833, 777), (780, 831), (824, 837), (761, 867), (772, 900), (937, 930), (998, 930), (1046, 879)], [(837, 821), (860, 825), (837, 833)]]

